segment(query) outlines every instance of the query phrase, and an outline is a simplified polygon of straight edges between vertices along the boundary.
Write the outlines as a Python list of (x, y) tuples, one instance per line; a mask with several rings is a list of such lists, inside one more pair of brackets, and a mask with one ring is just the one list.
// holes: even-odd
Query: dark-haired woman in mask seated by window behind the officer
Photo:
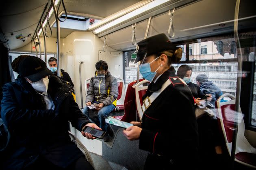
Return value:
[[(200, 90), (200, 88), (191, 82), (191, 75), (192, 75), (192, 68), (188, 65), (181, 65), (178, 68), (177, 71), (177, 76), (183, 79), (187, 85), (189, 86), (189, 89), (192, 92), (193, 97), (195, 98), (195, 102), (197, 105), (200, 105), (200, 102), (202, 101), (201, 99), (204, 98), (204, 94)], [(208, 101), (212, 100), (212, 95), (211, 94), (206, 94), (209, 97), (207, 98)]]

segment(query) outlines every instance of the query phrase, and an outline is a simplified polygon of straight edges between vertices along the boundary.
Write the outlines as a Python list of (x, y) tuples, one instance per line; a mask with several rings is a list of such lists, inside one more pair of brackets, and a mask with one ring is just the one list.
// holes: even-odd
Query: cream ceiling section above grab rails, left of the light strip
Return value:
[[(23, 42), (15, 36), (35, 33), (43, 8), (50, 0), (10, 0), (1, 2), (0, 28), (8, 40), (10, 49), (17, 49), (28, 44), (32, 36)], [(69, 12), (84, 13), (98, 17), (107, 17), (131, 6), (140, 0), (64, 0)], [(60, 11), (63, 11), (61, 6)], [(54, 15), (52, 15), (52, 19)], [(53, 36), (56, 36), (56, 28), (53, 28)], [(61, 29), (61, 38), (65, 38), (74, 30)], [(11, 36), (13, 33), (13, 36)]]

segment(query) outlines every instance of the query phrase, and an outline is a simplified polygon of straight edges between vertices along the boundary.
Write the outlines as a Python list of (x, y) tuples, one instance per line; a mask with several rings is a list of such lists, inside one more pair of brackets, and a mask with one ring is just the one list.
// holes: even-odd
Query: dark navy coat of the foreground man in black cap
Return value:
[(23, 77), (4, 85), (1, 116), (11, 132), (8, 154), (2, 160), (4, 168), (24, 168), (38, 157), (64, 168), (83, 155), (70, 140), (67, 122), (81, 131), (89, 120), (71, 93), (69, 85), (50, 76), (48, 94), (55, 108), (46, 110), (39, 102), (39, 94)]

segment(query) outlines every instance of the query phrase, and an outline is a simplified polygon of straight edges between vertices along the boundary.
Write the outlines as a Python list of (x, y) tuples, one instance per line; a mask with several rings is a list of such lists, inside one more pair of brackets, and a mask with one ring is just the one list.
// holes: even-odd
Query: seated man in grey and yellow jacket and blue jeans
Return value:
[[(107, 116), (117, 104), (117, 80), (108, 71), (108, 64), (105, 61), (98, 61), (95, 64), (95, 77), (91, 78), (86, 94), (86, 105), (91, 106), (96, 103), (94, 110), (98, 111), (100, 128), (107, 131), (104, 117)], [(89, 107), (85, 107), (83, 113), (89, 117)], [(110, 129), (108, 129), (110, 130)], [(108, 131), (110, 133), (111, 131)], [(104, 141), (109, 140), (108, 133), (104, 136)]]

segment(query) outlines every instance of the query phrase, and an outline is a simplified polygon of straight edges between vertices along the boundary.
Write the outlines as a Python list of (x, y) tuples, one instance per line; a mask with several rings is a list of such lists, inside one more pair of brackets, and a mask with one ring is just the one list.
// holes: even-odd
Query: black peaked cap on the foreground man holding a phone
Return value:
[(29, 56), (24, 58), (19, 64), (19, 73), (27, 77), (30, 81), (36, 82), (46, 76), (52, 75), (46, 63), (38, 57)]

